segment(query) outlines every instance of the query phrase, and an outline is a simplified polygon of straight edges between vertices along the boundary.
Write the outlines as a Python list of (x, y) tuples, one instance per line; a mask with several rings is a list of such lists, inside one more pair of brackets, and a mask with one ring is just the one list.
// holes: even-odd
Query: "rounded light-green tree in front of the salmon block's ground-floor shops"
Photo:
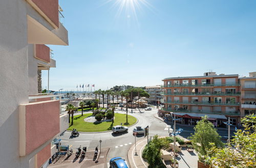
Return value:
[(194, 129), (195, 134), (191, 135), (190, 139), (195, 150), (199, 153), (200, 160), (206, 155), (206, 149), (210, 147), (209, 143), (214, 143), (217, 147), (223, 147), (221, 136), (214, 128), (214, 125), (207, 120), (207, 116), (202, 117)]

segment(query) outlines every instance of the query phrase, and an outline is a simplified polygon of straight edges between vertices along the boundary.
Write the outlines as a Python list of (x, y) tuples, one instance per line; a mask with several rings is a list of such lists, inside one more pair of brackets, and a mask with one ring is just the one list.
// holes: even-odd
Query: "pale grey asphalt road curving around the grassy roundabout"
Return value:
[[(151, 111), (133, 110), (129, 109), (129, 115), (132, 115), (138, 119), (138, 123), (132, 127), (129, 127), (129, 131), (125, 133), (113, 134), (112, 132), (103, 133), (80, 133), (78, 137), (71, 137), (71, 132), (64, 132), (61, 138), (61, 145), (70, 145), (74, 151), (76, 151), (80, 145), (86, 146), (89, 150), (94, 150), (96, 146), (99, 146), (99, 140), (102, 140), (101, 148), (110, 147), (110, 151), (107, 156), (107, 160), (113, 157), (119, 156), (127, 160), (127, 153), (131, 145), (135, 143), (135, 137), (133, 136), (133, 129), (136, 126), (146, 127), (149, 126), (149, 137), (158, 134), (159, 136), (168, 136), (168, 125), (159, 119), (154, 117), (157, 114), (158, 109), (152, 109)], [(91, 112), (90, 112), (91, 113)], [(121, 110), (116, 110), (115, 113), (125, 113)], [(77, 114), (80, 115), (80, 114)], [(173, 128), (173, 124), (170, 124)], [(183, 128), (183, 132), (180, 136), (187, 138), (191, 133), (194, 133), (193, 127), (177, 126), (176, 129)], [(218, 133), (227, 139), (227, 130), (218, 130)], [(231, 136), (233, 133), (231, 133)], [(137, 141), (143, 138), (143, 134), (136, 137)]]

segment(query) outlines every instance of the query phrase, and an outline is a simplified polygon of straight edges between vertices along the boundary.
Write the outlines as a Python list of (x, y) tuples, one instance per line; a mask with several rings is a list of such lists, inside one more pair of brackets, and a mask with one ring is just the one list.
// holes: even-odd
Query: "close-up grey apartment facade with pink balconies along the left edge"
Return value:
[(45, 44), (68, 45), (58, 0), (0, 1), (0, 32), (0, 167), (46, 167), (69, 126), (61, 96), (38, 95), (38, 70), (56, 67)]

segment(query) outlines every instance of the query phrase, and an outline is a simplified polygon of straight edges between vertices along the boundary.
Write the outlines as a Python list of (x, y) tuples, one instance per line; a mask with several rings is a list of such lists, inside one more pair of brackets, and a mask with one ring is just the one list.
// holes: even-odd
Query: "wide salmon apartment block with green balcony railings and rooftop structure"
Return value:
[(184, 124), (195, 125), (207, 115), (216, 126), (230, 117), (237, 125), (240, 119), (241, 93), (238, 74), (164, 78), (164, 113), (175, 113)]

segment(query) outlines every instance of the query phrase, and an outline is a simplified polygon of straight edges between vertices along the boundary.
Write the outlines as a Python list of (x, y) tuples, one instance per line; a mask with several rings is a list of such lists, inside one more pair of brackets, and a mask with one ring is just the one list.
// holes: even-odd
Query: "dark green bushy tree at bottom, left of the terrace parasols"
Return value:
[(161, 160), (161, 149), (169, 146), (166, 138), (159, 138), (155, 135), (153, 140), (143, 150), (142, 157), (147, 159), (148, 167), (165, 167)]

